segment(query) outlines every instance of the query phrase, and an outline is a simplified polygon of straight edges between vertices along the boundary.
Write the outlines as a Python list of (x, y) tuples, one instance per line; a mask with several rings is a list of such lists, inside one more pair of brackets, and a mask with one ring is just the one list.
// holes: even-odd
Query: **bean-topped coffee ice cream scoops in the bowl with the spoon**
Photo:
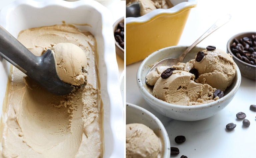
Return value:
[(186, 63), (175, 68), (168, 78), (161, 74), (167, 66), (160, 66), (146, 76), (146, 83), (154, 86), (152, 95), (177, 105), (198, 105), (218, 100), (235, 77), (235, 63), (230, 54), (208, 46)]

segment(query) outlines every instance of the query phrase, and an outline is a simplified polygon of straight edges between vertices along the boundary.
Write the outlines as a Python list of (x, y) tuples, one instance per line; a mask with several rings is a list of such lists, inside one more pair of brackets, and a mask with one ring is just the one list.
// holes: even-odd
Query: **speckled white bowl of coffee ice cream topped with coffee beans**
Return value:
[[(206, 119), (232, 100), (241, 83), (240, 70), (225, 51), (196, 46), (184, 63), (159, 67), (151, 77), (147, 76), (155, 63), (178, 57), (186, 47), (171, 46), (150, 54), (137, 71), (137, 85), (145, 101), (164, 116), (185, 121)], [(200, 57), (199, 52), (204, 56)]]

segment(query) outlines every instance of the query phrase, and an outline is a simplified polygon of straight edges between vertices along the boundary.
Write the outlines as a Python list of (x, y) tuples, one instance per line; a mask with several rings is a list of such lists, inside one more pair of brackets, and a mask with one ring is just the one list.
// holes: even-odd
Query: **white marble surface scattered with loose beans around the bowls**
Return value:
[[(190, 45), (198, 39), (223, 14), (230, 13), (229, 23), (204, 39), (199, 46), (215, 45), (226, 50), (230, 37), (240, 32), (256, 31), (256, 1), (252, 0), (198, 0), (196, 8), (191, 9), (179, 45)], [(171, 146), (178, 147), (181, 155), (188, 158), (246, 158), (255, 157), (256, 113), (249, 110), (256, 104), (255, 81), (242, 77), (241, 86), (229, 105), (215, 116), (200, 121), (178, 121), (155, 112), (142, 98), (137, 84), (136, 72), (140, 62), (126, 66), (126, 102), (141, 106), (155, 114), (164, 124)], [(241, 70), (242, 71), (242, 70)], [(244, 112), (251, 125), (242, 126), (236, 119), (238, 112)], [(237, 124), (233, 131), (226, 130), (226, 124)], [(186, 136), (183, 144), (176, 144), (177, 135)]]

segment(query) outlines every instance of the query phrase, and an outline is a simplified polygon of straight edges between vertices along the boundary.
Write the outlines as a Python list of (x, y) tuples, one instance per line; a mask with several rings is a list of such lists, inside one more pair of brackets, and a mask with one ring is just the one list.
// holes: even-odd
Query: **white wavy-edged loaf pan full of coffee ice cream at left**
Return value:
[[(86, 70), (79, 69), (87, 73), (87, 83), (74, 93), (56, 96), (0, 59), (0, 157), (124, 155), (124, 113), (109, 17), (107, 8), (87, 0), (18, 0), (1, 9), (0, 25), (32, 53), (41, 55), (56, 44), (55, 53), (70, 55), (58, 51), (58, 44), (73, 43), (88, 64)], [(64, 68), (69, 64), (62, 58), (58, 62)]]

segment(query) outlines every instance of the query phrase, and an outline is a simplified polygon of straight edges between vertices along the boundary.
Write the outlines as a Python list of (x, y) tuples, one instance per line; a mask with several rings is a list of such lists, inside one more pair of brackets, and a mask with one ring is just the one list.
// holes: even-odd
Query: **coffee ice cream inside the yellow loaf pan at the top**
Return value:
[(126, 0), (126, 5), (133, 2), (139, 2), (140, 16), (145, 15), (155, 9), (168, 9), (172, 7), (169, 0)]

